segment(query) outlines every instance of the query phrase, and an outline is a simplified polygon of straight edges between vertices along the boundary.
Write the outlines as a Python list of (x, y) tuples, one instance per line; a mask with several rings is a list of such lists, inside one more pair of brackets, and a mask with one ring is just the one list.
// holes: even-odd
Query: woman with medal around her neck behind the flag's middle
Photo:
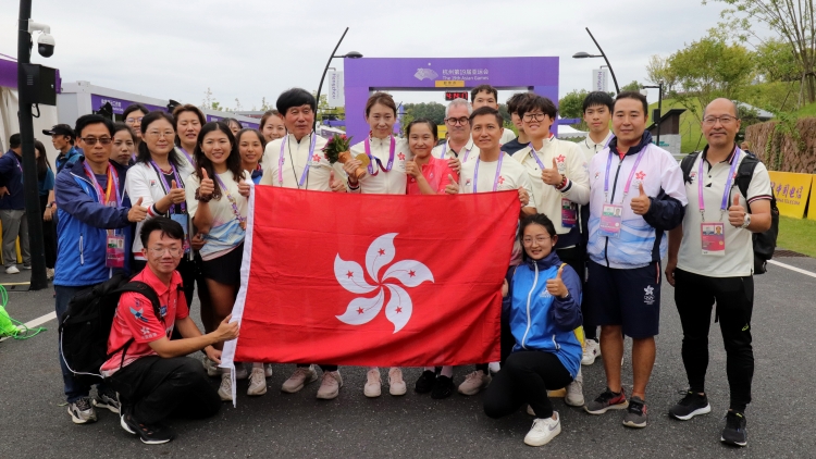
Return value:
[[(358, 159), (347, 161), (343, 170), (348, 174), (349, 193), (405, 195), (406, 162), (411, 159), (408, 142), (394, 135), (394, 123), (397, 121), (397, 106), (391, 95), (375, 92), (366, 103), (366, 122), (371, 127), (368, 138), (351, 146), (351, 156), (364, 156), (368, 165), (366, 174), (358, 177), (356, 171), (362, 166)], [(388, 392), (391, 395), (406, 393), (403, 371), (392, 367), (388, 371)], [(369, 368), (363, 394), (366, 397), (379, 397), (382, 380), (376, 367)]]

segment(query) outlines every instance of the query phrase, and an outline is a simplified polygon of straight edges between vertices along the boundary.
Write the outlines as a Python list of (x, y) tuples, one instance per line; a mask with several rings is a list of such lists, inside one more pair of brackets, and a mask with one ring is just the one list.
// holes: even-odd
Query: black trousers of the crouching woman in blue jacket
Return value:
[(547, 389), (567, 387), (572, 382), (569, 371), (554, 353), (521, 350), (511, 353), (484, 393), (484, 412), (502, 418), (530, 404), (536, 418), (553, 415)]

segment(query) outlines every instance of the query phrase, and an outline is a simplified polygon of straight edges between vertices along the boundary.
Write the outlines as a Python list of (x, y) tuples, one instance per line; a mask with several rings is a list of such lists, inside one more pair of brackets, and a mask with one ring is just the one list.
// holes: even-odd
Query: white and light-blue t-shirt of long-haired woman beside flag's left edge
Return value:
[[(218, 176), (226, 186), (226, 190), (221, 188), (221, 184), (218, 184), (221, 189), (221, 199), (212, 199), (209, 202), (210, 212), (212, 213), (212, 225), (210, 232), (205, 235), (207, 244), (200, 250), (202, 260), (212, 260), (226, 255), (240, 245), (246, 236), (246, 231), (240, 227), (238, 216), (246, 221), (247, 198), (238, 193), (238, 183), (233, 177), (232, 172), (226, 171), (223, 174), (218, 174)], [(244, 171), (243, 182), (251, 183), (251, 176), (249, 171)], [(217, 182), (215, 177), (212, 177), (212, 179)], [(198, 200), (196, 199), (198, 184), (197, 174), (190, 174), (184, 181), (184, 190), (187, 195), (187, 213), (189, 213), (190, 220), (196, 216), (196, 211), (198, 210)], [(230, 197), (235, 201), (238, 210), (237, 215)]]

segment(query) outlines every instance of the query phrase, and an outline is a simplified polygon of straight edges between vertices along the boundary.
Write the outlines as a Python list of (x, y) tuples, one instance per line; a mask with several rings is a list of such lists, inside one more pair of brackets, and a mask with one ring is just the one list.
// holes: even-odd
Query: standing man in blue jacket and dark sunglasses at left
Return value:
[[(110, 161), (113, 132), (113, 122), (100, 115), (76, 120), (77, 140), (85, 158), (57, 176), (54, 195), (60, 219), (53, 284), (58, 319), (78, 291), (109, 280), (114, 271), (127, 271), (125, 253), (131, 223), (147, 215), (141, 199), (131, 207), (129, 198), (124, 196), (127, 169)], [(60, 367), (73, 422), (96, 421), (88, 396), (90, 386), (74, 377), (61, 350)], [(94, 405), (119, 412), (116, 394), (102, 384), (97, 389)]]

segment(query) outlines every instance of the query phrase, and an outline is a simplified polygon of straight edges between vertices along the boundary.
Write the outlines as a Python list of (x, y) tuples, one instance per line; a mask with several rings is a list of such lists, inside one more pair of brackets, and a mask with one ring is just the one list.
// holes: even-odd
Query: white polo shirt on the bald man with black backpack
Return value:
[[(752, 243), (752, 233), (749, 230), (733, 227), (728, 223), (728, 208), (733, 204), (734, 194), (740, 196), (740, 204), (747, 209), (747, 204), (763, 199), (770, 199), (770, 176), (765, 164), (756, 164), (754, 175), (751, 178), (751, 185), (747, 189), (749, 196), (742, 196), (740, 188), (734, 181), (731, 182), (731, 190), (728, 195), (726, 211), (720, 214), (722, 204), (722, 195), (726, 189), (728, 173), (731, 170), (731, 161), (734, 153), (722, 162), (709, 164), (705, 159), (708, 151), (706, 147), (694, 161), (691, 169), (691, 183), (685, 184), (685, 195), (689, 198), (689, 204), (685, 207), (685, 216), (683, 218), (683, 240), (680, 243), (680, 252), (678, 253), (677, 268), (690, 273), (705, 275), (708, 277), (745, 277), (753, 274), (754, 271), (754, 249)], [(739, 161), (742, 162), (746, 154), (740, 152)], [(700, 214), (700, 189), (697, 177), (700, 172), (700, 162), (703, 164), (703, 200), (705, 203), (705, 221), (725, 223), (724, 232), (726, 234), (726, 255), (708, 256), (703, 255), (701, 224), (703, 218)], [(739, 170), (737, 164), (735, 171)]]

